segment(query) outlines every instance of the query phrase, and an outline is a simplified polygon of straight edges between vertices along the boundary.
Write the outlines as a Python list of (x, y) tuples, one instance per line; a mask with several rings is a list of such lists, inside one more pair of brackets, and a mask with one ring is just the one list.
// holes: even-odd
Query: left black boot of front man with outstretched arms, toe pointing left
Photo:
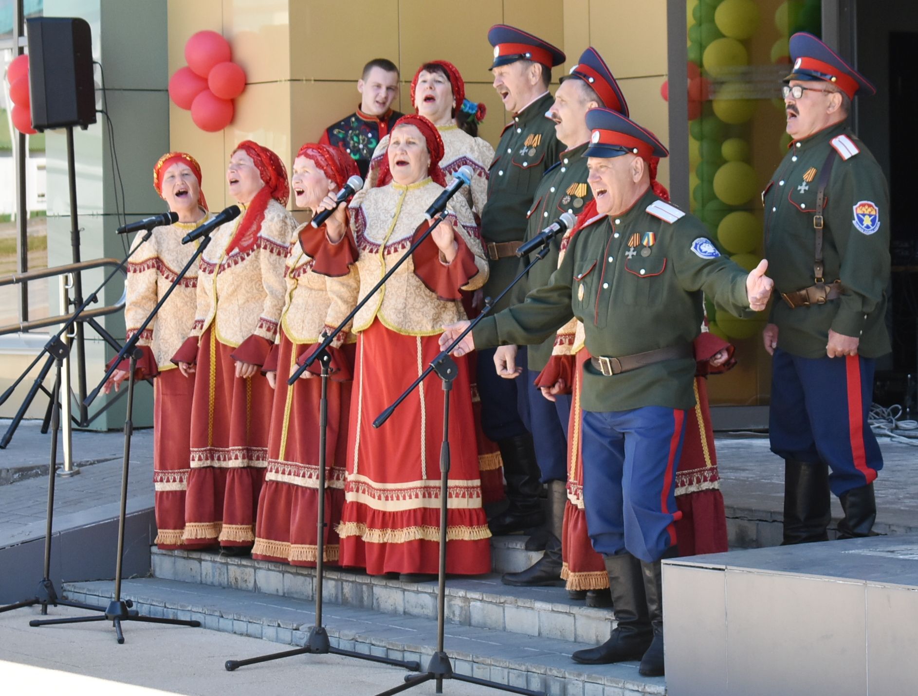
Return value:
[(571, 656), (575, 662), (584, 665), (641, 659), (653, 640), (647, 617), (641, 561), (627, 552), (607, 556), (605, 561), (612, 593), (612, 613), (618, 625), (610, 639), (601, 646), (577, 650)]

